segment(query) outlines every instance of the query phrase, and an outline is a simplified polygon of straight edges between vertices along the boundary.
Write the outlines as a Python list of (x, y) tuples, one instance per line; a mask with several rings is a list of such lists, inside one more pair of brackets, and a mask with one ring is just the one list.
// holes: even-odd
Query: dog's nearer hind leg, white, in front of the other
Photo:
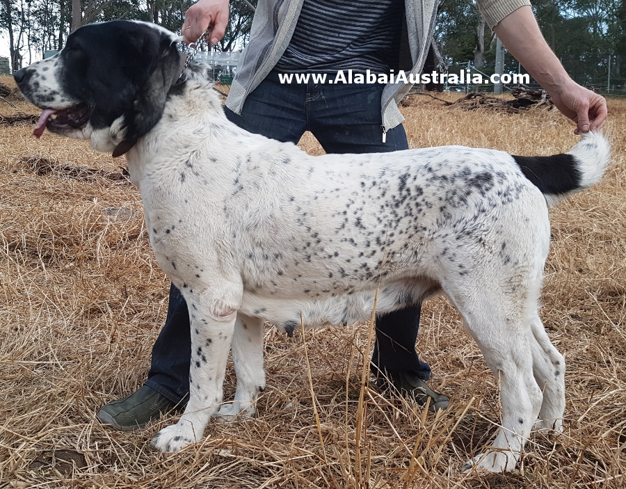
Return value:
[[(463, 465), (490, 472), (513, 470), (541, 407), (542, 393), (533, 377), (530, 321), (522, 299), (494, 284), (468, 280), (470, 287), (444, 290), (465, 319), (489, 368), (500, 384), (501, 426), (487, 451)], [(473, 283), (472, 283), (473, 282)], [(495, 281), (497, 282), (497, 281)]]

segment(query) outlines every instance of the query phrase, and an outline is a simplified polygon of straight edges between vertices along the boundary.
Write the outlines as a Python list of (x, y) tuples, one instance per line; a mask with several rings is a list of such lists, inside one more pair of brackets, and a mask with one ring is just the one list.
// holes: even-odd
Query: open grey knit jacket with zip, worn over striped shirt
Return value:
[[(226, 106), (240, 114), (243, 102), (259, 83), (278, 63), (289, 45), (296, 29), (304, 0), (259, 0), (250, 30), (250, 42), (239, 63), (236, 77), (232, 82)], [(438, 0), (405, 0), (406, 36), (411, 65), (407, 74), (418, 74), (424, 67), (428, 46), (433, 35)], [(506, 15), (524, 5), (529, 0), (477, 0), (481, 13), (490, 27), (495, 26)], [(401, 124), (404, 120), (398, 109), (398, 102), (410, 90), (410, 83), (389, 83), (383, 90), (381, 111), (383, 132)]]

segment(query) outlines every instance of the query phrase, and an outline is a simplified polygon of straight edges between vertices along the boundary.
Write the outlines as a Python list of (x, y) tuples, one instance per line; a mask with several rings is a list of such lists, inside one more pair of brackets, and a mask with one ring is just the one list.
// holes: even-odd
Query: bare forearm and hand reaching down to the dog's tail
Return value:
[(504, 17), (493, 31), (531, 77), (545, 88), (556, 108), (576, 122), (576, 134), (602, 126), (607, 118), (607, 101), (569, 77), (545, 42), (530, 6)]

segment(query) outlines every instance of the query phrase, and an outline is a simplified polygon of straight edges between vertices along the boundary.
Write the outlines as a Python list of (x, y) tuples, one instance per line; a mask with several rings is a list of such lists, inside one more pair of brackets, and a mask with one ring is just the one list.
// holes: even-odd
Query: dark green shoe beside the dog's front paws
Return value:
[(116, 430), (136, 430), (143, 428), (152, 419), (158, 419), (180, 403), (170, 401), (152, 387), (142, 385), (133, 394), (106, 404), (98, 411), (96, 417), (102, 424), (110, 424)]

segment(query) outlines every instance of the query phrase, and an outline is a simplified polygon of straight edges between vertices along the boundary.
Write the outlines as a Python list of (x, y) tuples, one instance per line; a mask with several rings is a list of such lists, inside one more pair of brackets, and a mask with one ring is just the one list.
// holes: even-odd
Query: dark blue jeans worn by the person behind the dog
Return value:
[[(281, 84), (277, 72), (248, 96), (241, 115), (225, 109), (227, 118), (247, 131), (278, 141), (298, 143), (311, 131), (327, 153), (382, 153), (408, 149), (404, 128), (387, 131), (383, 143), (380, 97), (383, 85)], [(376, 317), (376, 345), (371, 367), (388, 371), (412, 370), (428, 380), (431, 369), (419, 360), (415, 340), (420, 307)], [(168, 316), (152, 348), (152, 366), (145, 385), (171, 401), (188, 393), (191, 331), (185, 300), (172, 285)]]

